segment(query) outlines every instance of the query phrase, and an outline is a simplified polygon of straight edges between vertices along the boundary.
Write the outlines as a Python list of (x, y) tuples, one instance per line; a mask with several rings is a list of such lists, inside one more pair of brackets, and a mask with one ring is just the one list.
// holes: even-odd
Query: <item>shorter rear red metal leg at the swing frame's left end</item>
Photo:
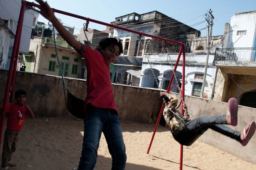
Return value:
[[(21, 18), (21, 23), (23, 23), (23, 20), (24, 20), (24, 15), (23, 15), (23, 18)], [(22, 32), (22, 29), (21, 29), (21, 32)], [(12, 73), (12, 91), (11, 91), (11, 95), (10, 95), (10, 99), (9, 99), (10, 103), (12, 103), (14, 89), (15, 89), (16, 73), (17, 73), (17, 64), (18, 64), (18, 58), (19, 58), (20, 44), (21, 44), (21, 33), (20, 33), (20, 36), (19, 36), (19, 39), (18, 39), (18, 47), (16, 49), (15, 62), (14, 62), (13, 73)]]

